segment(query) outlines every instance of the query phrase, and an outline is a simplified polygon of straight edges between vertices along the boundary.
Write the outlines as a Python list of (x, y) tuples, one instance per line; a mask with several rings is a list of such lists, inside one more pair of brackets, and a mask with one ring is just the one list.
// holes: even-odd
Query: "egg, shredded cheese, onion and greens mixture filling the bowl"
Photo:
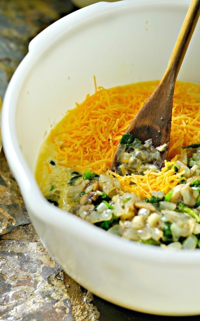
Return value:
[[(95, 93), (68, 110), (43, 143), (36, 179), (52, 205), (108, 232), (165, 248), (199, 248), (200, 85), (176, 83), (169, 159), (161, 170), (151, 139), (142, 145), (139, 137), (123, 136), (157, 84), (105, 89), (95, 82)], [(119, 175), (109, 168), (120, 140), (126, 153)]]

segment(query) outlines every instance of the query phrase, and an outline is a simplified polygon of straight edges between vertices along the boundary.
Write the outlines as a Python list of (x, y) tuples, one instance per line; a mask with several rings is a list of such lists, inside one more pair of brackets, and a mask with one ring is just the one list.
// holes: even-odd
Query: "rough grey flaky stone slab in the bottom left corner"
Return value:
[(72, 321), (60, 267), (40, 242), (0, 241), (0, 317)]

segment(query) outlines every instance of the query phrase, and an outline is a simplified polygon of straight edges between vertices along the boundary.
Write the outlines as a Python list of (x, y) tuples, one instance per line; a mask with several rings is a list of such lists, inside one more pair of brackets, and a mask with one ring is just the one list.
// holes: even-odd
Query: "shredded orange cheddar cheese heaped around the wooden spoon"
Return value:
[(119, 179), (122, 190), (132, 191), (141, 199), (149, 197), (152, 191), (167, 193), (176, 186), (184, 173), (184, 170), (175, 173), (173, 166), (185, 152), (181, 146), (200, 143), (200, 85), (197, 84), (176, 83), (169, 161), (165, 161), (161, 171), (125, 177), (109, 171), (121, 136), (157, 84), (158, 81), (140, 82), (105, 89), (97, 88), (95, 82), (95, 93), (77, 103), (51, 131), (47, 143), (54, 145), (57, 164), (78, 171), (90, 169), (97, 174), (108, 171)]

